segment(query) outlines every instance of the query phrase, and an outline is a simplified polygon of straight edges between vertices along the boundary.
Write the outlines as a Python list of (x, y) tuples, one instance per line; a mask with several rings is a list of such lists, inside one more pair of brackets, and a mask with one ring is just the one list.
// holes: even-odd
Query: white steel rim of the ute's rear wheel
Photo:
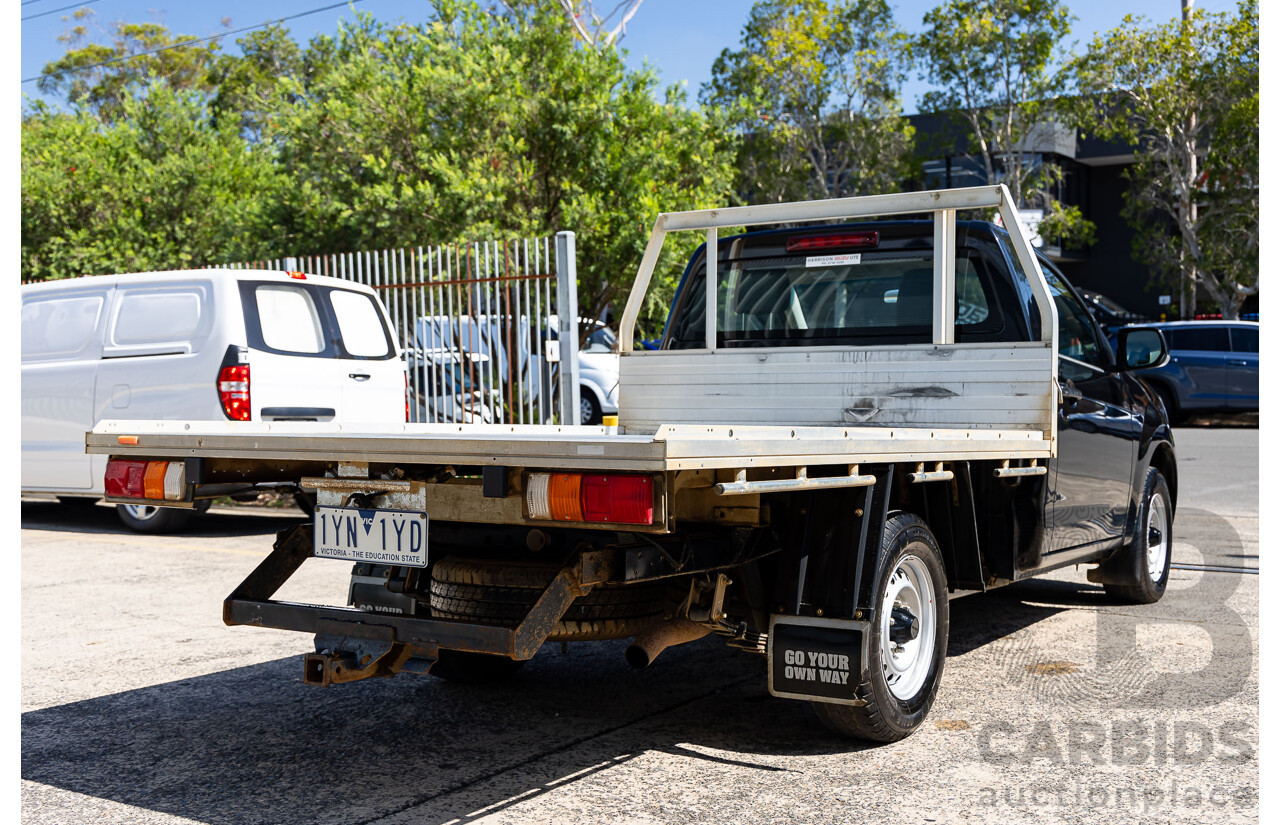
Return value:
[[(893, 608), (906, 608), (920, 623), (919, 634), (901, 645), (890, 638)], [(914, 555), (902, 556), (884, 582), (879, 615), (881, 668), (884, 683), (890, 693), (902, 701), (914, 698), (929, 677), (929, 669), (933, 666), (937, 609), (929, 569)]]

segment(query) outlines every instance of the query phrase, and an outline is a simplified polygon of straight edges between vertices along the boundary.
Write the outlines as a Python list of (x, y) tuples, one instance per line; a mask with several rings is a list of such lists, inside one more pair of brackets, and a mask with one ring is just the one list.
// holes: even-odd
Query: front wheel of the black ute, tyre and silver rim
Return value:
[(1149, 605), (1160, 601), (1169, 583), (1174, 547), (1174, 504), (1169, 483), (1151, 468), (1142, 487), (1138, 528), (1133, 541), (1106, 562), (1112, 581), (1103, 583), (1117, 601)]

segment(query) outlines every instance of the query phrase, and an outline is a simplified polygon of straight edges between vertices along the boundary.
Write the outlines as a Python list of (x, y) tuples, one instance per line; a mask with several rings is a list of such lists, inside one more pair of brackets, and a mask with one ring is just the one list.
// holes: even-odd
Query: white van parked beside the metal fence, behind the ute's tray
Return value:
[[(95, 501), (102, 418), (403, 422), (406, 373), (365, 285), (266, 270), (102, 275), (22, 288), (22, 490)], [(118, 508), (134, 530), (189, 512)]]

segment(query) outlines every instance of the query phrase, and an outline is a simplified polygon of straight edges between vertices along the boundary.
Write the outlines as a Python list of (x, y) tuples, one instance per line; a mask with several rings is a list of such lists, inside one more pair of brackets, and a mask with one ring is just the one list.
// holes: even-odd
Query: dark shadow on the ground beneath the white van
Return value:
[[(287, 527), (292, 521), (305, 518), (300, 512), (229, 512), (225, 509), (198, 513), (182, 530), (180, 536), (233, 538), (243, 536), (269, 536)], [(120, 522), (115, 508), (93, 504), (61, 504), (45, 499), (22, 500), (23, 530), (51, 530), (72, 533), (119, 533), (137, 536)]]

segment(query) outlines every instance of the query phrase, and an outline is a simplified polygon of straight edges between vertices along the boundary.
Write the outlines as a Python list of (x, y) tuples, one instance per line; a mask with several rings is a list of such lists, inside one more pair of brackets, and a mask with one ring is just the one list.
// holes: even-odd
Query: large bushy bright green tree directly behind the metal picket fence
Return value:
[[(580, 307), (626, 298), (658, 211), (722, 205), (717, 124), (613, 49), (575, 42), (554, 1), (489, 14), (442, 3), (422, 26), (361, 15), (308, 51), (328, 69), (278, 87), (268, 139), (291, 179), (292, 244), (577, 233)], [(644, 317), (660, 329), (672, 278)]]

